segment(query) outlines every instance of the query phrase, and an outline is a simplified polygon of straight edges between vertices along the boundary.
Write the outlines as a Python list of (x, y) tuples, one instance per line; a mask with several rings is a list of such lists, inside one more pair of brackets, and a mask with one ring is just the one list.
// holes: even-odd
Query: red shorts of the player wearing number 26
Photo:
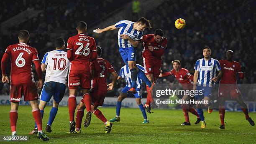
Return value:
[(82, 70), (71, 70), (68, 77), (69, 89), (77, 89), (81, 85), (82, 89), (90, 89), (91, 72)]

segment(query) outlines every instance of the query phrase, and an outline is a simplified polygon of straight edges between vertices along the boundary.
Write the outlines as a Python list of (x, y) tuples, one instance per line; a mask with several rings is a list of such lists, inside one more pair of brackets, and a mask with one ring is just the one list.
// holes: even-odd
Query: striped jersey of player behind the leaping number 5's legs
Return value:
[[(144, 68), (141, 65), (137, 64), (137, 67), (144, 72)], [(122, 77), (122, 78), (125, 78), (127, 87), (131, 87), (131, 72), (130, 72), (130, 69), (129, 69), (128, 65), (124, 65), (121, 68), (119, 76)], [(137, 77), (137, 82), (136, 83), (137, 83), (136, 88), (141, 89), (142, 79)]]

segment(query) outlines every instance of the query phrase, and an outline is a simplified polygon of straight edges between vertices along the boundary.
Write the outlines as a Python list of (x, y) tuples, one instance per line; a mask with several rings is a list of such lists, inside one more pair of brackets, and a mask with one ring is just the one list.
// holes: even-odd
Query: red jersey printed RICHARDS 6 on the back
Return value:
[(11, 60), (11, 84), (25, 84), (35, 82), (32, 72), (32, 62), (38, 59), (36, 48), (24, 42), (9, 45), (5, 53)]

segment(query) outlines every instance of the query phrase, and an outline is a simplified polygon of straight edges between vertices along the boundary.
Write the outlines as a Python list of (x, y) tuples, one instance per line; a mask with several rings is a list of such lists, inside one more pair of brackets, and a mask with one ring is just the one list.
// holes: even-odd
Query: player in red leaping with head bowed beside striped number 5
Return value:
[[(164, 37), (164, 32), (161, 29), (157, 29), (154, 34), (143, 35), (140, 41), (132, 40), (128, 35), (120, 35), (120, 37), (128, 39), (134, 47), (137, 47), (139, 43), (143, 43), (142, 57), (144, 71), (147, 78), (155, 84), (162, 66), (161, 56), (164, 54), (168, 43), (167, 38)], [(147, 85), (146, 88), (148, 97), (144, 107), (147, 112), (151, 113), (151, 104), (152, 108), (156, 108), (157, 105), (154, 103), (150, 87)]]

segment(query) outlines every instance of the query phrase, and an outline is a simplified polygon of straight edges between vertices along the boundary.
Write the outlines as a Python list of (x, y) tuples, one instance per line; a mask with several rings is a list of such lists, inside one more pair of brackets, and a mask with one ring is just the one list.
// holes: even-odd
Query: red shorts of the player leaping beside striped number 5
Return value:
[(143, 65), (145, 74), (154, 74), (154, 77), (159, 77), (162, 60), (149, 60), (143, 57)]

